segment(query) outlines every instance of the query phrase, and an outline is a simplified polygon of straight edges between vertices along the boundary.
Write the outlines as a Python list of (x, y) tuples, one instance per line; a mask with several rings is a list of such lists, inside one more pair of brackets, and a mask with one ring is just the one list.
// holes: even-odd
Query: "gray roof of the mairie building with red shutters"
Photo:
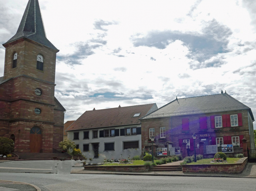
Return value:
[(234, 97), (224, 94), (206, 95), (198, 97), (187, 97), (175, 99), (174, 101), (162, 106), (154, 112), (142, 117), (141, 119), (169, 117), (178, 115), (191, 115), (196, 113), (211, 113), (219, 111), (231, 111), (249, 109), (252, 120), (251, 109)]

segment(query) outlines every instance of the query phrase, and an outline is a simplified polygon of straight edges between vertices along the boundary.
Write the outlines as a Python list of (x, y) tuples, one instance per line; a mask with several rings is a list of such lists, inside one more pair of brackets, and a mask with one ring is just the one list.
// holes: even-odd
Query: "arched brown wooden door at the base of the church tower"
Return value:
[(30, 152), (40, 153), (42, 148), (42, 131), (39, 127), (32, 127), (30, 130)]

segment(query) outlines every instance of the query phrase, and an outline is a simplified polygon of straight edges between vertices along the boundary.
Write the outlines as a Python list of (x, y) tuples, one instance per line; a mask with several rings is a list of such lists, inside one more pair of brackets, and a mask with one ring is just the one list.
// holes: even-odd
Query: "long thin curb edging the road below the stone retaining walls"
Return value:
[(217, 177), (217, 178), (256, 178), (256, 177), (241, 177), (241, 176), (230, 176), (230, 175), (171, 175), (171, 174), (135, 174), (135, 173), (117, 173), (117, 172), (90, 172), (90, 173), (78, 173), (78, 172), (70, 172), (70, 174), (108, 174), (108, 175), (132, 175), (132, 176), (187, 176), (187, 177)]

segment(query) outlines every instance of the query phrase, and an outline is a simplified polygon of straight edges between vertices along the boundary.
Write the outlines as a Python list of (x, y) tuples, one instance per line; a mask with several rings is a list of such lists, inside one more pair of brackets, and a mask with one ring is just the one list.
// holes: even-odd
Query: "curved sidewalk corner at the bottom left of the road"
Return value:
[(26, 182), (0, 180), (0, 191), (41, 191), (40, 188)]

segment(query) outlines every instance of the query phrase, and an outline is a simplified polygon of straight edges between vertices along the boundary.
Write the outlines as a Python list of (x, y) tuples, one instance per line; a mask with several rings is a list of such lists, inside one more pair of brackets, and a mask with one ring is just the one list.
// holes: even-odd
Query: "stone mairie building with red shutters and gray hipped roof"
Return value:
[(195, 149), (197, 154), (200, 141), (218, 148), (226, 144), (242, 147), (245, 138), (248, 148), (255, 149), (251, 109), (227, 93), (176, 99), (140, 120), (146, 150), (151, 150), (151, 136), (155, 136), (155, 148), (167, 148), (168, 141), (182, 149), (182, 142), (188, 142), (190, 151)]

